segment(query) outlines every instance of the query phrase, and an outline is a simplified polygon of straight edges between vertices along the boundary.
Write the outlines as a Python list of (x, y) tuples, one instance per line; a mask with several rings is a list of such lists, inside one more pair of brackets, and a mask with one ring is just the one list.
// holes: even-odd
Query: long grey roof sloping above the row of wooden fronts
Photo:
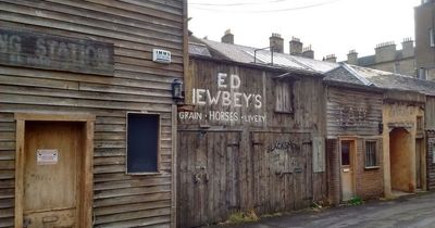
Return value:
[[(258, 50), (252, 47), (223, 43), (206, 39), (198, 40), (203, 42), (207, 48), (210, 48), (211, 50), (206, 51), (204, 49), (207, 48), (203, 46), (191, 45), (191, 47), (189, 46), (190, 54), (212, 56), (213, 53), (217, 52), (220, 55), (234, 62), (269, 66), (272, 63), (272, 53), (269, 50)], [(257, 52), (256, 54), (254, 51)], [(253, 58), (254, 55), (256, 63)], [(365, 61), (365, 63), (374, 62), (374, 55), (360, 58), (360, 61), (361, 60), (363, 62)], [(398, 75), (362, 66), (331, 63), (276, 52), (273, 53), (273, 65), (304, 73), (324, 74), (324, 80), (326, 81), (371, 86), (381, 89), (417, 91), (424, 94), (435, 96), (434, 81), (421, 80), (411, 76)]]

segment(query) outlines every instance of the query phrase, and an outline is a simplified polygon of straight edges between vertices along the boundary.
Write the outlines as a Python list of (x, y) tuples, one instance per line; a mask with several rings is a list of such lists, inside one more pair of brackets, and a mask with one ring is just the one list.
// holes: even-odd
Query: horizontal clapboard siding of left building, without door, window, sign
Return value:
[[(171, 83), (184, 75), (185, 1), (0, 1), (0, 27), (114, 45), (114, 76), (0, 66), (0, 227), (14, 219), (16, 112), (97, 116), (96, 227), (169, 227), (173, 189)], [(172, 64), (152, 62), (152, 48)], [(125, 175), (126, 112), (162, 116), (161, 174)], [(174, 220), (173, 220), (174, 221)]]

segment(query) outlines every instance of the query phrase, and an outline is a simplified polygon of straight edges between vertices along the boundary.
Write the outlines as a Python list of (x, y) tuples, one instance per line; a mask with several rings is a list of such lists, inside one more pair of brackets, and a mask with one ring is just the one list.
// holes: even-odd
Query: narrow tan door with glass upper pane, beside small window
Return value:
[(341, 156), (341, 201), (355, 197), (355, 141), (344, 140), (340, 143)]

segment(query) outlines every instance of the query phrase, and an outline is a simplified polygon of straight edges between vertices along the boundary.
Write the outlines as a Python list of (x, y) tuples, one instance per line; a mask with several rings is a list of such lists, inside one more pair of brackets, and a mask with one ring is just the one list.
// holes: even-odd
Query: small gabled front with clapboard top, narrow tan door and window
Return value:
[(383, 92), (366, 83), (346, 65), (326, 73), (326, 157), (333, 204), (383, 195)]

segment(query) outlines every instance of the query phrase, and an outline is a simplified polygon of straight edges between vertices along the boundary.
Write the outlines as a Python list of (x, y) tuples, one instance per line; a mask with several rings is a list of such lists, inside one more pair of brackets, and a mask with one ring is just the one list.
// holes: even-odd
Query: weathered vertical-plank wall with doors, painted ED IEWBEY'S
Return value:
[[(323, 137), (321, 77), (293, 75), (236, 63), (190, 58), (187, 88), (219, 90), (219, 73), (235, 74), (240, 87), (231, 92), (261, 94), (263, 105), (194, 105), (188, 113), (236, 112), (265, 115), (265, 122), (185, 119), (178, 112), (178, 226), (224, 221), (232, 213), (258, 215), (310, 206), (327, 195), (326, 172), (313, 172), (313, 137)], [(275, 85), (291, 85), (293, 113), (275, 112)], [(325, 157), (323, 155), (323, 157)]]

